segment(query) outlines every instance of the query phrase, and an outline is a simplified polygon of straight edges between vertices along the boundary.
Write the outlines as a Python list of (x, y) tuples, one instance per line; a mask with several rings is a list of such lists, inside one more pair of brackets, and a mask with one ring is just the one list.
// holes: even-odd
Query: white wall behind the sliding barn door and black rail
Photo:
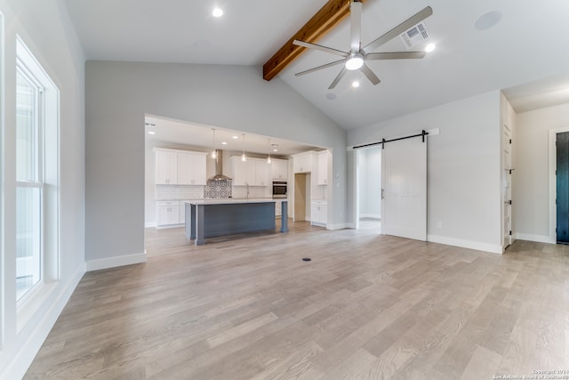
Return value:
[[(349, 131), (348, 143), (432, 128), (440, 134), (428, 138), (428, 239), (501, 252), (500, 92)], [(355, 161), (351, 153), (349, 165)], [(351, 183), (354, 191), (353, 179)], [(349, 214), (354, 215), (351, 203)]]

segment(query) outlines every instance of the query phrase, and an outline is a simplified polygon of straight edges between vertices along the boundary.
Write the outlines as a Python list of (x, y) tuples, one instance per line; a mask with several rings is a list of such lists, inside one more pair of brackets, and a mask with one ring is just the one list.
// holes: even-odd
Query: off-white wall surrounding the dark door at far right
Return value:
[(555, 243), (549, 225), (549, 130), (569, 128), (569, 104), (517, 114), (512, 213), (517, 239)]

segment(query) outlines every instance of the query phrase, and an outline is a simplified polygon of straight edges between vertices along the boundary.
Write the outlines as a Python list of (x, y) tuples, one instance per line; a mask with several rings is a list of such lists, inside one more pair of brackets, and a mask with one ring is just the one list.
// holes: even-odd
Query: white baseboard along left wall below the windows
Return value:
[(55, 302), (44, 313), (43, 318), (40, 319), (32, 333), (29, 334), (26, 342), (20, 345), (20, 350), (14, 353), (11, 365), (4, 368), (4, 370), (0, 370), (0, 379), (22, 378), (26, 374), (32, 361), (36, 358), (37, 352), (42, 348), (42, 344), (44, 344), (45, 339), (52, 331), (53, 325), (60, 318), (61, 311), (63, 311), (79, 281), (83, 278), (84, 273), (85, 265), (82, 264), (73, 277), (69, 279), (68, 284), (62, 287), (60, 294), (55, 298)]

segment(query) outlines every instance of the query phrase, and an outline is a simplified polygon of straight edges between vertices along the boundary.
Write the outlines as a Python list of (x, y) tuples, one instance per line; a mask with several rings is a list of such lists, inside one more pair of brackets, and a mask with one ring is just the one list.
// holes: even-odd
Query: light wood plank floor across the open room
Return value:
[(493, 255), (291, 227), (201, 247), (147, 230), (148, 263), (86, 273), (26, 378), (569, 372), (569, 247), (517, 241)]

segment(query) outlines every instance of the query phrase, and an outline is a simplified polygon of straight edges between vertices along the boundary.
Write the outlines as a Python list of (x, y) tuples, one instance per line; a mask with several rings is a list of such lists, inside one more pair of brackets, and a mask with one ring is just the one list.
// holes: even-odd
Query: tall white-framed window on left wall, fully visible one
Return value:
[(59, 276), (59, 90), (18, 38), (16, 299)]

